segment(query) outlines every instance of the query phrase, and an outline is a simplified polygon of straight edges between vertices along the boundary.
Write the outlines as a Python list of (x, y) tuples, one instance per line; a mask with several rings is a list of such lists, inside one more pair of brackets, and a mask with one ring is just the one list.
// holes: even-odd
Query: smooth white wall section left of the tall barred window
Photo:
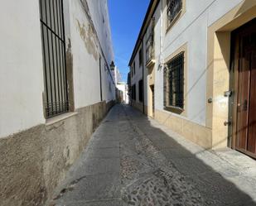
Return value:
[(39, 1), (0, 6), (0, 137), (44, 123)]

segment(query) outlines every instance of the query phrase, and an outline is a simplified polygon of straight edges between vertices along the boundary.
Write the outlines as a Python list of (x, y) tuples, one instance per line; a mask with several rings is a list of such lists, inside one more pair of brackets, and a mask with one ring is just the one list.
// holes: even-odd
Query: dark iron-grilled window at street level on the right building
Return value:
[(165, 108), (184, 108), (184, 52), (167, 63), (164, 70)]

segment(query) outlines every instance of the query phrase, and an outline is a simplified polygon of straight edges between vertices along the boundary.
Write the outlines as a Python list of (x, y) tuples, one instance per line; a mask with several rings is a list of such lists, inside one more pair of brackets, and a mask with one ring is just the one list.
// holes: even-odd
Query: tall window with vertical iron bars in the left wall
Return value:
[(69, 111), (62, 0), (40, 1), (46, 117)]

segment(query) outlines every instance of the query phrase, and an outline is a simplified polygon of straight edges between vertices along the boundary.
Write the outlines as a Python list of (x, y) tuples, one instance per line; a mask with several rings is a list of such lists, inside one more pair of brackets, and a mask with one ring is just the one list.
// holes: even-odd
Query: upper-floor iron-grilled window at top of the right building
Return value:
[(168, 26), (175, 20), (182, 9), (182, 0), (167, 0)]

